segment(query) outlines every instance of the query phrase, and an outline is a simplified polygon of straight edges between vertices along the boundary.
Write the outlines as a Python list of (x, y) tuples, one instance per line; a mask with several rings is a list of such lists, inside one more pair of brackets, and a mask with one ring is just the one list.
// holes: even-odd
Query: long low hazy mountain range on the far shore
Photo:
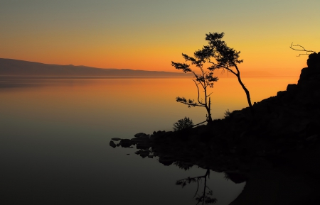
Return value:
[(129, 69), (102, 69), (87, 66), (52, 65), (0, 58), (0, 76), (37, 77), (187, 77), (190, 74)]

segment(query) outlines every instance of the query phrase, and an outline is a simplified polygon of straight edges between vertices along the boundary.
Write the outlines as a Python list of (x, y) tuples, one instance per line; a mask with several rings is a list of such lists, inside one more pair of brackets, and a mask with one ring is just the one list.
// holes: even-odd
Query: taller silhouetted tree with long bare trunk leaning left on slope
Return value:
[(245, 87), (245, 84), (242, 83), (240, 70), (238, 68), (238, 65), (243, 62), (243, 60), (239, 59), (240, 51), (228, 47), (225, 41), (221, 40), (224, 35), (224, 33), (206, 34), (208, 45), (203, 46), (203, 48), (196, 51), (194, 55), (204, 62), (210, 63), (211, 66), (208, 67), (208, 70), (214, 71), (222, 69), (223, 72), (226, 70), (227, 72), (235, 74), (242, 89), (245, 91), (247, 103), (249, 104), (250, 111), (253, 115), (254, 111), (251, 104), (250, 92)]

